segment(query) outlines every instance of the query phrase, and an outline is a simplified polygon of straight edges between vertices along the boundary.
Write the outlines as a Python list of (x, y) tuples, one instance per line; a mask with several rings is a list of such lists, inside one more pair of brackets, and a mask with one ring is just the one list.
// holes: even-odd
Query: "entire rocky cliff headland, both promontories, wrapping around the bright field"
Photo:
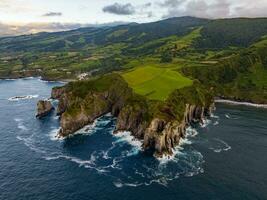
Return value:
[(59, 99), (61, 137), (111, 112), (117, 117), (114, 134), (130, 131), (143, 141), (145, 150), (153, 150), (156, 156), (171, 155), (180, 138), (185, 136), (186, 128), (201, 122), (212, 106), (212, 96), (198, 85), (173, 92), (166, 102), (149, 101), (134, 94), (127, 83), (114, 74), (55, 88), (52, 97)]

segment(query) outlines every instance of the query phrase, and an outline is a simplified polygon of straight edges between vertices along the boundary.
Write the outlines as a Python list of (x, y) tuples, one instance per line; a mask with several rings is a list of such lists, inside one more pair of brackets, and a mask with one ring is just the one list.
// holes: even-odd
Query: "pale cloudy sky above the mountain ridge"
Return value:
[[(0, 0), (0, 34), (169, 17), (267, 17), (267, 0)], [(50, 27), (51, 26), (51, 27)]]

